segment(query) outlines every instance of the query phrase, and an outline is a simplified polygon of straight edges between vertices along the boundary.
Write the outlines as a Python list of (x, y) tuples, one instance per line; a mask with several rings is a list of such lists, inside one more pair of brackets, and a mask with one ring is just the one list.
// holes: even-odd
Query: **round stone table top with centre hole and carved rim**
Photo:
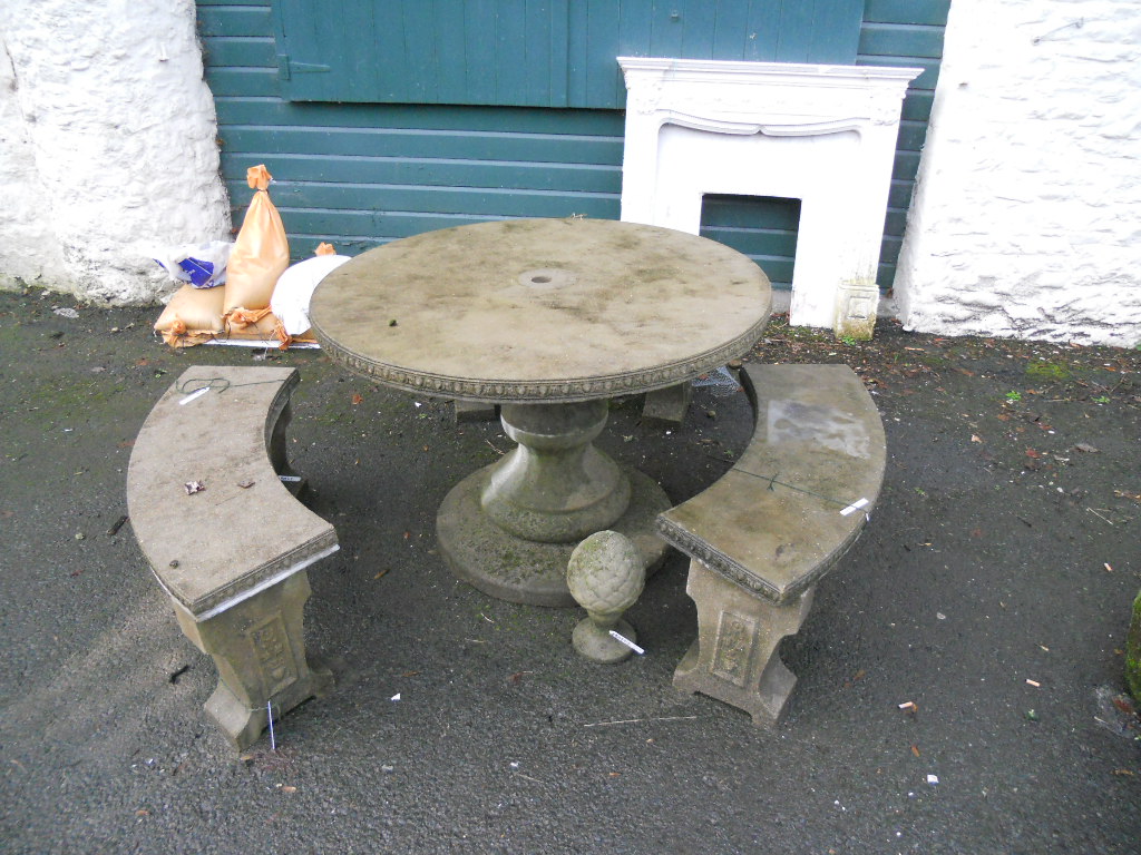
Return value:
[(703, 237), (614, 220), (505, 220), (362, 253), (317, 286), (314, 332), (389, 385), (482, 401), (650, 391), (739, 357), (768, 278)]

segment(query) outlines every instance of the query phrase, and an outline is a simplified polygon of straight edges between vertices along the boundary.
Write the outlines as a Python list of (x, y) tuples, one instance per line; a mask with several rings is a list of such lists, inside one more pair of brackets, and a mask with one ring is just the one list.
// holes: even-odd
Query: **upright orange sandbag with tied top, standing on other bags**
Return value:
[(245, 180), (256, 193), (229, 253), (224, 307), (227, 314), (234, 309), (265, 309), (269, 306), (277, 277), (289, 267), (285, 226), (269, 201), (267, 189), (272, 178), (265, 165), (245, 171)]

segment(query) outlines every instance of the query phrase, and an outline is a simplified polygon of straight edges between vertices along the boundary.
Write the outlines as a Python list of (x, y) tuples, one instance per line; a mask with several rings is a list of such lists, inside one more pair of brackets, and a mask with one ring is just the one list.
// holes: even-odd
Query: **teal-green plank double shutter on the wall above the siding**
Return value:
[(614, 109), (617, 56), (850, 64), (864, 0), (277, 0), (294, 101)]

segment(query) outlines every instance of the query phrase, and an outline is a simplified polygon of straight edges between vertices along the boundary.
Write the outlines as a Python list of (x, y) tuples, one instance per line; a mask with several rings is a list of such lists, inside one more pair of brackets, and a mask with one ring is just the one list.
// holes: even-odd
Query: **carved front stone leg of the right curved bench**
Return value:
[(673, 673), (673, 685), (745, 710), (771, 727), (796, 684), (777, 648), (795, 635), (812, 604), (814, 588), (776, 604), (746, 592), (696, 559), (686, 593), (697, 604), (697, 641)]

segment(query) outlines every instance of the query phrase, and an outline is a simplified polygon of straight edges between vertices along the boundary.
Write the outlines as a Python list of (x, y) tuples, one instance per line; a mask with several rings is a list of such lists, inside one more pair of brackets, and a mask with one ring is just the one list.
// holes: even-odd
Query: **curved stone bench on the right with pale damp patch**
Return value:
[(755, 429), (736, 465), (657, 518), (690, 556), (697, 641), (673, 684), (779, 720), (796, 682), (777, 653), (816, 583), (859, 537), (883, 482), (883, 425), (843, 365), (746, 365)]

